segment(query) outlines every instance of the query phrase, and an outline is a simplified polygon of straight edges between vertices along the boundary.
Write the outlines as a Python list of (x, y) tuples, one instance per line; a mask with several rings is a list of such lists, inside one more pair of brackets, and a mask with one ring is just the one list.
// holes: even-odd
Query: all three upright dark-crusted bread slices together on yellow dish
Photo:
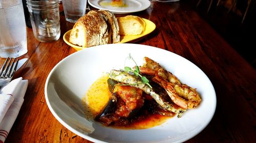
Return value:
[(120, 42), (115, 15), (104, 10), (88, 12), (73, 26), (69, 42), (82, 47)]

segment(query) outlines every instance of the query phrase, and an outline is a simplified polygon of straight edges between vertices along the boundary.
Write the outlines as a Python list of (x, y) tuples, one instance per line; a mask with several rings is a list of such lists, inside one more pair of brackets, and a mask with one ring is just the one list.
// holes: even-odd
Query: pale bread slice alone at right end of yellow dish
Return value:
[(142, 18), (133, 15), (118, 17), (117, 21), (120, 35), (139, 35), (146, 26), (146, 22)]

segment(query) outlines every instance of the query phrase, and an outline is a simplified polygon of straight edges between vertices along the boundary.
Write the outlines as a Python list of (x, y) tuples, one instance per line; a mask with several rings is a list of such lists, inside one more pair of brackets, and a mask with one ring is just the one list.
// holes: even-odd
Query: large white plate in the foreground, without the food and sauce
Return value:
[[(114, 129), (88, 121), (83, 113), (82, 97), (102, 72), (123, 68), (129, 53), (138, 65), (148, 56), (181, 82), (196, 88), (202, 98), (200, 106), (187, 110), (181, 118), (174, 117), (160, 126), (142, 130)], [(202, 70), (173, 52), (139, 44), (100, 45), (69, 55), (50, 72), (45, 98), (54, 117), (63, 126), (94, 142), (182, 142), (201, 132), (216, 109), (214, 87)]]

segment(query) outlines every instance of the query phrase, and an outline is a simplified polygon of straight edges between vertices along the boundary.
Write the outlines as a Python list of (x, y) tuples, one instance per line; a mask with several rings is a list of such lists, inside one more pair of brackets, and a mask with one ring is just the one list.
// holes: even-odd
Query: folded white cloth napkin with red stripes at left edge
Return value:
[(0, 91), (0, 143), (5, 142), (18, 116), (27, 88), (28, 80), (22, 80), (22, 77), (19, 77)]

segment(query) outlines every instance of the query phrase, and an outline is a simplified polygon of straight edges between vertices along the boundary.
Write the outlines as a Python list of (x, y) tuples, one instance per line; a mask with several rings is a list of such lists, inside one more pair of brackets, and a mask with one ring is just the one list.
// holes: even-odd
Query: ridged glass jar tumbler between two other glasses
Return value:
[(30, 20), (35, 38), (51, 42), (60, 37), (58, 0), (27, 0)]

